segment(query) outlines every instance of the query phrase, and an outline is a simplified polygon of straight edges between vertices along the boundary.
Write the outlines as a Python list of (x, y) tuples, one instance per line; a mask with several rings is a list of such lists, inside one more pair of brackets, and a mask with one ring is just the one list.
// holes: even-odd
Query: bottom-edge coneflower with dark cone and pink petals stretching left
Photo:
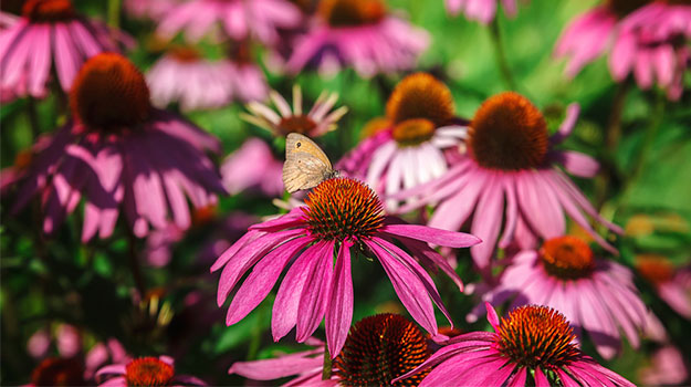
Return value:
[[(397, 314), (378, 314), (355, 323), (343, 351), (334, 359), (331, 376), (323, 377), (324, 343), (310, 338), (314, 349), (282, 355), (272, 359), (238, 362), (229, 374), (254, 380), (273, 380), (297, 375), (284, 386), (389, 386), (391, 380), (422, 364), (431, 354), (420, 330)], [(395, 383), (409, 386), (419, 383), (426, 373)]]

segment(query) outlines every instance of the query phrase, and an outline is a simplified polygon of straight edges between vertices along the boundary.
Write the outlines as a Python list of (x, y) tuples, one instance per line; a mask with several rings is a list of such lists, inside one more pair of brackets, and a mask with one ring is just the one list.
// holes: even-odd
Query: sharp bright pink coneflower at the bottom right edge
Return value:
[(428, 386), (630, 386), (597, 364), (576, 345), (576, 335), (558, 311), (521, 306), (502, 317), (485, 303), (494, 332), (471, 332), (451, 338), (416, 369), (429, 373)]

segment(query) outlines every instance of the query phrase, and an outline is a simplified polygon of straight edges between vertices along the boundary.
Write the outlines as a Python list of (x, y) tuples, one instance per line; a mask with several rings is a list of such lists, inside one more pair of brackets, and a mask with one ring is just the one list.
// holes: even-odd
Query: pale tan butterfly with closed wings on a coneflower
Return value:
[(283, 185), (289, 194), (316, 187), (320, 182), (337, 177), (328, 157), (307, 136), (291, 133), (285, 140)]

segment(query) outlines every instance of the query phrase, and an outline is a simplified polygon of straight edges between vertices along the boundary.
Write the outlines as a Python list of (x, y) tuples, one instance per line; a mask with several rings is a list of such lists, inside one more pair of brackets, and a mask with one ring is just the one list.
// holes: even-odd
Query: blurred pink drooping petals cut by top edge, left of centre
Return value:
[(167, 12), (157, 33), (172, 38), (185, 31), (186, 38), (196, 42), (218, 23), (233, 40), (252, 36), (274, 44), (279, 29), (297, 27), (301, 21), (300, 9), (285, 0), (192, 0)]

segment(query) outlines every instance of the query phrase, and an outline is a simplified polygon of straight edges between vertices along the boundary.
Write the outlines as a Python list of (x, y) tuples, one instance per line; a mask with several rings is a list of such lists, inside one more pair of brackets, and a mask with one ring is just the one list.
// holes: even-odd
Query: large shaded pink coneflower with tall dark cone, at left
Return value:
[(82, 240), (112, 234), (122, 206), (135, 236), (149, 223), (190, 223), (187, 198), (199, 208), (224, 192), (205, 149), (218, 142), (192, 124), (153, 108), (139, 71), (125, 57), (88, 60), (70, 96), (73, 121), (40, 148), (19, 185), (14, 211), (39, 195), (50, 233), (85, 197)]

